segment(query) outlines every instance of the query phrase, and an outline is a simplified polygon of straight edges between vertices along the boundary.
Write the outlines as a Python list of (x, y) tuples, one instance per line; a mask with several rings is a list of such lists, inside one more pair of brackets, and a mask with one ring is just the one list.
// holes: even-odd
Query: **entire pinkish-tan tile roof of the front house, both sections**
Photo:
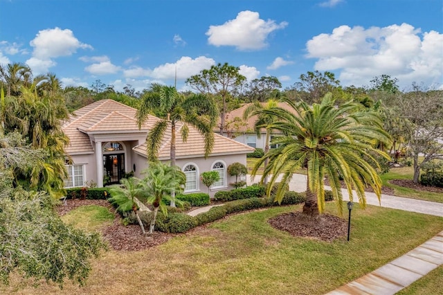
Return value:
[[(93, 152), (93, 146), (87, 133), (118, 133), (138, 132), (135, 119), (136, 109), (123, 105), (115, 100), (99, 100), (91, 105), (82, 107), (74, 112), (63, 125), (64, 133), (69, 136), (70, 143), (65, 148), (67, 154), (80, 154)], [(147, 132), (154, 123), (159, 120), (155, 116), (149, 116), (142, 127)], [(188, 141), (181, 140), (181, 124), (177, 126), (177, 159), (182, 157), (201, 157), (204, 154), (204, 138), (192, 126), (189, 126)], [(159, 158), (170, 158), (170, 129), (166, 132), (160, 148)], [(134, 147), (139, 154), (146, 154), (146, 143)], [(238, 143), (230, 138), (215, 134), (215, 146), (213, 154), (242, 154), (253, 152), (253, 147)]]

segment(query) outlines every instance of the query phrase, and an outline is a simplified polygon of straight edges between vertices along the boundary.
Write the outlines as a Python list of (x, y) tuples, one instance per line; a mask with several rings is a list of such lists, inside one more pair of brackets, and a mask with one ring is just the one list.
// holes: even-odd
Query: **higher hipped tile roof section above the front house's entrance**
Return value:
[[(130, 132), (138, 131), (135, 119), (136, 109), (115, 100), (98, 100), (74, 111), (63, 124), (63, 131), (69, 137), (65, 147), (67, 154), (93, 152), (89, 136), (85, 132)], [(142, 130), (154, 124), (155, 116), (150, 116)]]

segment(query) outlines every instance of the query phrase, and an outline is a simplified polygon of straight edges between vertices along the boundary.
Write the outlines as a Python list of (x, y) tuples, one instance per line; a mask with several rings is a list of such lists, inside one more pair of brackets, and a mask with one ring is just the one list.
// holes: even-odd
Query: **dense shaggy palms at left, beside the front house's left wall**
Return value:
[(39, 95), (38, 82), (20, 88), (13, 114), (20, 118), (17, 129), (28, 138), (33, 148), (45, 150), (46, 157), (40, 159), (32, 170), (17, 172), (17, 179), (27, 180), (30, 188), (46, 190), (58, 197), (67, 177), (64, 147), (69, 138), (62, 132), (62, 120), (68, 118), (69, 112), (58, 91), (43, 91)]

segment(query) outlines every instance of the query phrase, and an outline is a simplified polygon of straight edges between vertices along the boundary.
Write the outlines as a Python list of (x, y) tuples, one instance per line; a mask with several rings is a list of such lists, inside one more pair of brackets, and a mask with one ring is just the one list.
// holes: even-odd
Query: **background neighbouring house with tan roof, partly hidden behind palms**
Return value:
[[(261, 102), (262, 105), (266, 105), (266, 102)], [(239, 143), (244, 143), (250, 147), (261, 148), (264, 150), (266, 143), (266, 129), (262, 128), (260, 130), (260, 137), (254, 130), (255, 122), (257, 122), (257, 116), (251, 116), (247, 120), (243, 119), (244, 110), (251, 103), (247, 103), (239, 107), (238, 109), (233, 109), (229, 111), (225, 116), (225, 127), (224, 132), (229, 138), (233, 138)], [(286, 102), (278, 102), (278, 107), (286, 109), (287, 111), (293, 111), (291, 106)], [(219, 130), (215, 130), (219, 131)], [(273, 136), (271, 136), (272, 139)], [(271, 145), (271, 148), (273, 146)]]

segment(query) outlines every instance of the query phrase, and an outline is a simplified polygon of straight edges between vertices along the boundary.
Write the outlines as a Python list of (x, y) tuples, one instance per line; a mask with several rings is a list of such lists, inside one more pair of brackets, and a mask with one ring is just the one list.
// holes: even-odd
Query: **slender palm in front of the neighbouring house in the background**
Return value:
[[(266, 113), (265, 111), (278, 107), (278, 100), (270, 99), (265, 104), (261, 102), (253, 102), (248, 105), (243, 113), (243, 119), (247, 120), (251, 116), (257, 116), (257, 120), (254, 124), (254, 130), (257, 133), (257, 137), (260, 138), (262, 134), (262, 128), (266, 129), (266, 140), (264, 143), (264, 153), (269, 152), (269, 141), (271, 140), (272, 129), (269, 127), (276, 120), (275, 116)], [(264, 159), (264, 169), (268, 166), (268, 159)], [(264, 184), (268, 183), (268, 178), (265, 177)]]

